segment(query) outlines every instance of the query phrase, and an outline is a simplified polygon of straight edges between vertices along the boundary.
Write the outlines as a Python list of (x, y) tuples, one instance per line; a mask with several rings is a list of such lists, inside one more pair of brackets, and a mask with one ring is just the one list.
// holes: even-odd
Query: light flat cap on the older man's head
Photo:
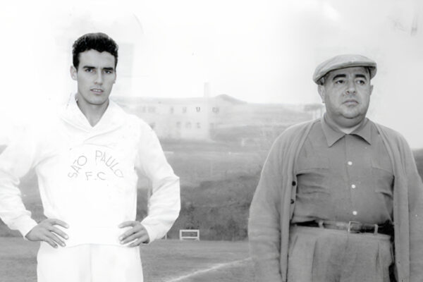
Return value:
[(319, 84), (319, 80), (323, 78), (326, 73), (340, 68), (350, 68), (355, 66), (364, 66), (369, 68), (370, 79), (374, 78), (374, 75), (376, 75), (377, 65), (375, 61), (358, 54), (344, 54), (334, 56), (333, 58), (320, 63), (314, 71), (313, 80)]

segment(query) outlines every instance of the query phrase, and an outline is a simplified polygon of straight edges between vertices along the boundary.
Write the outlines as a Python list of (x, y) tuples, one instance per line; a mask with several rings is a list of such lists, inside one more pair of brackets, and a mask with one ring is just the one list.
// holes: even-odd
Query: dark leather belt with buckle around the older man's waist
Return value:
[(327, 229), (345, 230), (348, 233), (374, 233), (393, 235), (393, 224), (386, 222), (384, 224), (369, 224), (358, 221), (305, 221), (295, 223), (297, 226), (319, 227)]

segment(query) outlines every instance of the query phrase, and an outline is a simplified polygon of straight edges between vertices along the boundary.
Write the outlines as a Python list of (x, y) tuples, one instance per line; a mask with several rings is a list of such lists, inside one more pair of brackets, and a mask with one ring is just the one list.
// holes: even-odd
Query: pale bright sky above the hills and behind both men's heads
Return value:
[(42, 116), (76, 90), (71, 46), (119, 44), (113, 95), (228, 94), (320, 103), (312, 73), (337, 54), (378, 63), (368, 116), (423, 148), (423, 7), (418, 0), (7, 1), (0, 11), (0, 128)]

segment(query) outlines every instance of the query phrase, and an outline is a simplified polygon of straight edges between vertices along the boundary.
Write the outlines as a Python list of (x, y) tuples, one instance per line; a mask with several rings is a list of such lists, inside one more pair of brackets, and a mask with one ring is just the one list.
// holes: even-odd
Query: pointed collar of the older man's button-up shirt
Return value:
[[(324, 114), (323, 118), (321, 118), (321, 129), (326, 137), (328, 147), (331, 147), (336, 141), (346, 135), (326, 120), (326, 114)], [(365, 118), (364, 123), (350, 134), (360, 136), (363, 140), (369, 143), (369, 145), (372, 145), (372, 124), (369, 122), (369, 119)]]

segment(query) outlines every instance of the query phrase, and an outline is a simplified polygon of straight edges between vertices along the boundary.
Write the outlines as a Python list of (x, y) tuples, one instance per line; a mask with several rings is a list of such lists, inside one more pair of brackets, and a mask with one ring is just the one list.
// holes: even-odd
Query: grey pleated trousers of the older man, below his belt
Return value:
[(288, 282), (390, 282), (391, 236), (291, 226)]

